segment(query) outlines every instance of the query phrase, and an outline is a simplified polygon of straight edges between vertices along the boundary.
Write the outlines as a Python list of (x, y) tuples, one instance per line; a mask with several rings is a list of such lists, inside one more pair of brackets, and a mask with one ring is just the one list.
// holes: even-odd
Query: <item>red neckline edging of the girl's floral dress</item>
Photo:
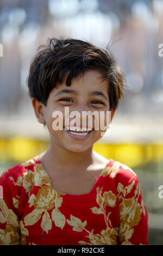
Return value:
[(89, 195), (95, 190), (95, 188), (96, 188), (96, 186), (97, 186), (97, 184), (98, 184), (98, 182), (99, 182), (99, 179), (102, 177), (101, 174), (104, 172), (104, 170), (106, 169), (106, 167), (108, 167), (108, 164), (109, 164), (109, 162), (110, 162), (110, 159), (109, 159), (109, 160), (108, 160), (108, 163), (105, 164), (105, 167), (102, 169), (101, 173), (98, 175), (98, 178), (96, 178), (96, 182), (95, 182), (95, 184), (93, 185), (92, 190), (91, 190), (89, 193), (84, 193), (84, 194), (69, 194), (69, 193), (65, 193), (65, 192), (58, 191), (58, 190), (56, 190), (56, 189), (53, 187), (52, 180), (51, 180), (51, 178), (49, 177), (49, 175), (48, 175), (46, 169), (44, 168), (44, 166), (43, 166), (41, 160), (39, 159), (39, 156), (33, 157), (33, 160), (34, 160), (35, 164), (40, 164), (40, 165), (41, 165), (43, 172), (45, 172), (45, 174), (46, 174), (46, 176), (47, 176), (47, 178), (48, 178), (48, 180), (49, 180), (49, 183), (51, 184), (52, 189), (53, 189), (55, 192), (60, 193), (60, 194), (65, 194), (65, 196), (67, 195), (67, 196), (72, 196), (72, 197), (89, 196)]

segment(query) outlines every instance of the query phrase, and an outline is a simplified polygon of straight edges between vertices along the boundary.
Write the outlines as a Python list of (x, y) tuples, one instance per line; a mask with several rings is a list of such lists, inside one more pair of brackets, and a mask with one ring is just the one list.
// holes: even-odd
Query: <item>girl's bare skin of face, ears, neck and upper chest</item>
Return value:
[[(109, 111), (108, 82), (99, 78), (98, 71), (87, 71), (84, 77), (72, 80), (71, 86), (67, 87), (65, 82), (54, 88), (49, 94), (47, 106), (32, 99), (35, 115), (39, 123), (46, 123), (49, 131), (51, 145), (47, 151), (39, 155), (40, 161), (51, 178), (53, 188), (65, 193), (82, 194), (89, 193), (96, 182), (96, 176), (108, 163), (108, 159), (97, 154), (93, 144), (101, 138), (102, 130), (93, 130), (89, 138), (77, 141), (69, 136), (65, 130), (53, 130), (52, 124), (54, 111), (61, 111), (64, 116), (65, 107), (69, 112), (78, 111), (81, 117), (82, 111)], [(62, 89), (73, 89), (78, 95), (62, 93), (55, 96)], [(89, 96), (89, 92), (98, 90), (101, 95)], [(64, 100), (67, 99), (67, 100)], [(99, 103), (102, 102), (102, 103)], [(111, 120), (116, 108), (111, 111)], [(74, 118), (70, 118), (70, 121)], [(65, 118), (63, 119), (64, 124)], [(95, 127), (95, 118), (93, 118)], [(99, 124), (100, 127), (100, 124)], [(68, 164), (67, 164), (68, 163)]]

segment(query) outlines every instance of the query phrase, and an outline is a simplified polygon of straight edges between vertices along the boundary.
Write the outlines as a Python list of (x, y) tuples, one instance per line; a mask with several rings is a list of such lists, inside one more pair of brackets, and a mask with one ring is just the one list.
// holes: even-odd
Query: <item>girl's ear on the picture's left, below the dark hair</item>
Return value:
[(33, 98), (32, 105), (35, 111), (36, 118), (39, 121), (39, 123), (45, 124), (46, 120), (45, 120), (45, 111), (44, 111), (43, 103)]

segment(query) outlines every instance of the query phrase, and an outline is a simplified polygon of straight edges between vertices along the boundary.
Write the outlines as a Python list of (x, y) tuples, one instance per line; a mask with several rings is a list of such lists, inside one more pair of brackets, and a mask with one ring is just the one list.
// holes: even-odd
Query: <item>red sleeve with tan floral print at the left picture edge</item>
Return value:
[(0, 245), (20, 244), (20, 217), (18, 216), (18, 193), (9, 170), (0, 177)]

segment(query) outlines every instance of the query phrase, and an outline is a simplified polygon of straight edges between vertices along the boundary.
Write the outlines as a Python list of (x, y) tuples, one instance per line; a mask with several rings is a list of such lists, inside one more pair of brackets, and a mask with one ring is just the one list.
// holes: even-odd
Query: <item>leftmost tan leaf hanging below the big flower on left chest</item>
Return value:
[(43, 209), (39, 210), (39, 209), (34, 209), (32, 212), (30, 212), (30, 214), (26, 215), (24, 217), (24, 224), (27, 225), (33, 225), (35, 224), (37, 221), (40, 220), (41, 215), (42, 215)]

